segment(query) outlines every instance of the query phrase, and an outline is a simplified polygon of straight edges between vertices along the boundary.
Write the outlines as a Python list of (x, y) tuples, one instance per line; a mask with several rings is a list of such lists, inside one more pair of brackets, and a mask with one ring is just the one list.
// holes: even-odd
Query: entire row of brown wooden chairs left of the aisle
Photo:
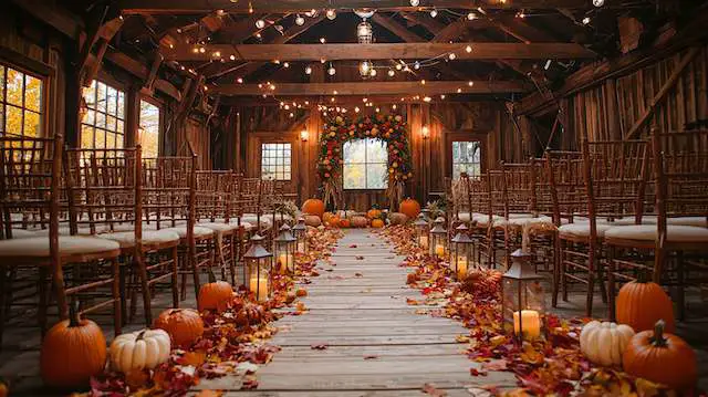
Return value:
[(113, 306), (118, 334), (138, 299), (152, 323), (159, 290), (177, 307), (205, 272), (242, 283), (248, 236), (272, 239), (281, 196), (272, 180), (199, 170), (194, 154), (143, 158), (139, 146), (0, 137), (0, 338), (13, 307), (28, 304), (42, 332), (51, 304), (60, 318), (72, 300), (83, 313)]

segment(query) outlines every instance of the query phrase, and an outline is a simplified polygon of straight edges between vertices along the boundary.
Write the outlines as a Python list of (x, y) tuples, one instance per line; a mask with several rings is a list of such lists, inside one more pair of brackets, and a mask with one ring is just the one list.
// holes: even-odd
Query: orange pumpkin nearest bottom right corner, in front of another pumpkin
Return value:
[(622, 357), (624, 370), (673, 389), (690, 388), (698, 379), (696, 353), (680, 337), (665, 334), (664, 326), (659, 320), (653, 331), (632, 337)]

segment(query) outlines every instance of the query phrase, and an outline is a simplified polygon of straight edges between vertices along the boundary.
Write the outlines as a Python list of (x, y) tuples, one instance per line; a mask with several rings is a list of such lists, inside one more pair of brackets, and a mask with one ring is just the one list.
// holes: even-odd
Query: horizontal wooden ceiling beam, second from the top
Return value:
[[(471, 52), (465, 51), (467, 45)], [(595, 53), (573, 43), (386, 43), (386, 44), (209, 44), (205, 53), (164, 49), (166, 60), (209, 61), (237, 56), (240, 61), (421, 60), (455, 52), (458, 60), (592, 59)]]

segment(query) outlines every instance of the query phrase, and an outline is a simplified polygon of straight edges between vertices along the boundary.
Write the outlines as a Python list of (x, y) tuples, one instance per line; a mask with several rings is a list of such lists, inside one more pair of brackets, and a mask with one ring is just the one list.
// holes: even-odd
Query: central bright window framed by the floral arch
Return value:
[(344, 144), (344, 188), (386, 189), (388, 145), (381, 139), (354, 139)]

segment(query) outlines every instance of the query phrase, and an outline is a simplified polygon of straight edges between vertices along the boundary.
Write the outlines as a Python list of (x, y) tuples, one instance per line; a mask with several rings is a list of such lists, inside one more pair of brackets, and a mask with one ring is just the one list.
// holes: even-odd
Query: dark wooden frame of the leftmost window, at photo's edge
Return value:
[[(34, 62), (33, 60), (27, 60)], [(30, 62), (30, 63), (32, 63)], [(39, 62), (35, 62), (39, 64)], [(8, 119), (8, 113), (7, 113), (7, 108), (8, 106), (12, 106), (15, 108), (20, 108), (22, 111), (22, 134), (21, 135), (17, 135), (17, 134), (9, 134), (11, 136), (27, 136), (24, 134), (24, 112), (32, 112), (39, 115), (39, 134), (35, 136), (38, 138), (41, 137), (45, 137), (46, 136), (46, 127), (49, 125), (49, 113), (50, 113), (50, 108), (49, 108), (49, 88), (50, 88), (50, 79), (53, 76), (53, 70), (51, 67), (48, 66), (48, 70), (45, 71), (46, 73), (42, 73), (42, 72), (38, 72), (34, 71), (25, 65), (22, 64), (18, 64), (17, 62), (12, 62), (9, 61), (6, 58), (0, 58), (0, 65), (4, 67), (4, 75), (2, 76), (4, 80), (4, 84), (2, 84), (0, 86), (0, 90), (2, 90), (2, 100), (0, 101), (0, 105), (2, 105), (2, 126), (0, 126), (0, 134), (8, 134), (8, 132), (6, 130), (6, 125), (7, 125), (7, 119)], [(44, 64), (41, 64), (41, 66), (46, 66)], [(14, 104), (10, 104), (8, 102), (8, 84), (7, 84), (7, 74), (8, 74), (8, 67), (9, 69), (13, 69), (20, 73), (22, 73), (23, 75), (29, 75), (32, 76), (37, 80), (40, 81), (40, 109), (39, 112), (32, 111), (30, 108), (28, 108), (25, 106), (25, 100), (27, 100), (27, 84), (25, 81), (23, 81), (22, 83), (22, 106), (17, 106)], [(24, 80), (24, 79), (23, 79)]]

